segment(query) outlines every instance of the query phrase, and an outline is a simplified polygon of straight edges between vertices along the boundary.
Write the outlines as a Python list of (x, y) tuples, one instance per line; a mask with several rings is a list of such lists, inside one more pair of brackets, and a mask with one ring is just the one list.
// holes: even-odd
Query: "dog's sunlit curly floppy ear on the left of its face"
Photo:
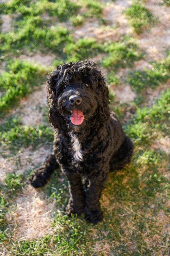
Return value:
[(61, 65), (57, 65), (57, 69), (53, 70), (51, 75), (47, 77), (47, 101), (49, 104), (48, 119), (54, 128), (65, 127), (64, 119), (58, 111), (57, 100), (60, 91), (57, 89), (57, 83), (59, 80), (59, 73), (61, 71)]

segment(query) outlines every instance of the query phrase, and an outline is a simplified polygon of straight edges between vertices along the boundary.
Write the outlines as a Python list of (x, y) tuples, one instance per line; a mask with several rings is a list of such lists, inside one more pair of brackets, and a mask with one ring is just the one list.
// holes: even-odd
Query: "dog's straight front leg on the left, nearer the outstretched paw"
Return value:
[(82, 214), (85, 206), (85, 192), (81, 181), (81, 176), (71, 171), (64, 172), (68, 179), (70, 199), (66, 207), (67, 214)]

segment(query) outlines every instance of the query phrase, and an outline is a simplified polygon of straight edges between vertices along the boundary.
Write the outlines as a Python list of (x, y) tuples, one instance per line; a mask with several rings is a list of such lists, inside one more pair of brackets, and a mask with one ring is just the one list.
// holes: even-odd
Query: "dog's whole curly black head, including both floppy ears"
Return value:
[(109, 92), (97, 65), (77, 61), (58, 65), (47, 78), (49, 121), (54, 128), (80, 132), (110, 116)]

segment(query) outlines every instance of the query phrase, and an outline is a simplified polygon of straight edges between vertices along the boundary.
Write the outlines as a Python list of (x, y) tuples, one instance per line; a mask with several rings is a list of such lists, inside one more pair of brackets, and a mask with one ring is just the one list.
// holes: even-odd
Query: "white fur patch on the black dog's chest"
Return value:
[(78, 140), (78, 138), (76, 137), (76, 135), (73, 134), (72, 132), (70, 133), (70, 136), (71, 136), (71, 144), (72, 144), (74, 159), (76, 159), (78, 161), (82, 161), (83, 160), (83, 151), (81, 149), (81, 143)]

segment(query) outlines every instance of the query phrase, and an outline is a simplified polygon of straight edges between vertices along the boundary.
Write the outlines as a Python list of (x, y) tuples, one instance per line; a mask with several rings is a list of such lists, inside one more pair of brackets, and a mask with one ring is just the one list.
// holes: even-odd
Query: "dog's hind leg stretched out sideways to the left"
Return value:
[(44, 165), (38, 167), (30, 176), (31, 185), (35, 188), (43, 187), (57, 167), (58, 163), (56, 162), (54, 153), (52, 153), (46, 158)]

